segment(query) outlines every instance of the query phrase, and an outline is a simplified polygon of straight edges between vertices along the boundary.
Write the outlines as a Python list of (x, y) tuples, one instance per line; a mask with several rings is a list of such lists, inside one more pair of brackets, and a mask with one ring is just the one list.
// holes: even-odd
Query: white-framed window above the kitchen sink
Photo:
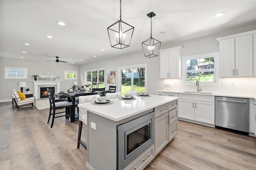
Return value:
[(184, 84), (194, 85), (194, 82), (198, 80), (201, 85), (217, 85), (218, 56), (216, 52), (182, 57)]

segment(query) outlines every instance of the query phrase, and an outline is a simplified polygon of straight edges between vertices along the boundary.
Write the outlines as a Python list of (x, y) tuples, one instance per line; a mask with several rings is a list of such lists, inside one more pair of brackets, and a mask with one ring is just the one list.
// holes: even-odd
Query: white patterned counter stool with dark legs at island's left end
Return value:
[[(81, 103), (89, 103), (95, 101), (100, 95), (88, 95), (88, 96), (79, 96), (79, 104)], [(84, 109), (79, 109), (79, 128), (78, 128), (78, 139), (77, 139), (77, 148), (79, 148), (80, 144), (87, 150), (87, 146), (84, 142), (81, 141), (81, 133), (83, 123), (87, 125), (87, 113), (88, 111)]]

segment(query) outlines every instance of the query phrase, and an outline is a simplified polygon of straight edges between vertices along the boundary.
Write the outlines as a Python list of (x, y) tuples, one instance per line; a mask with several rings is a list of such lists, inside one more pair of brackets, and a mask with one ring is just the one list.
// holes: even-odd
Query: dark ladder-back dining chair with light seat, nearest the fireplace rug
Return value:
[[(71, 114), (71, 110), (70, 110), (70, 108), (72, 106), (72, 103), (68, 102), (68, 101), (56, 102), (54, 100), (54, 90), (47, 88), (47, 92), (48, 92), (48, 97), (49, 97), (49, 101), (50, 101), (50, 112), (49, 112), (49, 118), (48, 118), (47, 124), (49, 123), (50, 117), (52, 115), (52, 124), (51, 124), (51, 128), (52, 128), (55, 118), (57, 118), (57, 117), (64, 117), (64, 116), (66, 117), (66, 119), (68, 117), (71, 118), (71, 115), (70, 115)], [(56, 110), (63, 109), (63, 108), (65, 108), (65, 111), (60, 111), (60, 112), (56, 113)], [(55, 117), (55, 115), (60, 114), (60, 113), (65, 113), (65, 115), (61, 115), (61, 116)]]

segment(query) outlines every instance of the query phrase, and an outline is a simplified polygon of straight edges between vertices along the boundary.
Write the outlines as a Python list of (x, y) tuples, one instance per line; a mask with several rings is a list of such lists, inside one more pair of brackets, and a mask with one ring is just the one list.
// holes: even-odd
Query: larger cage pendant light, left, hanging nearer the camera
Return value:
[(108, 27), (108, 36), (111, 47), (126, 48), (130, 46), (134, 27), (122, 21), (122, 3), (120, 0), (120, 20)]

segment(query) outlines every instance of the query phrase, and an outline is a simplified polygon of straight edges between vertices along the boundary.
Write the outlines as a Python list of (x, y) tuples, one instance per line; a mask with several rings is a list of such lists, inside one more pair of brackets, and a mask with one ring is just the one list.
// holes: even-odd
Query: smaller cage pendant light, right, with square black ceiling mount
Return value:
[(158, 56), (161, 42), (152, 38), (152, 17), (156, 16), (156, 14), (154, 14), (154, 12), (150, 12), (147, 16), (151, 19), (151, 34), (148, 40), (142, 42), (142, 48), (145, 57), (152, 58)]

